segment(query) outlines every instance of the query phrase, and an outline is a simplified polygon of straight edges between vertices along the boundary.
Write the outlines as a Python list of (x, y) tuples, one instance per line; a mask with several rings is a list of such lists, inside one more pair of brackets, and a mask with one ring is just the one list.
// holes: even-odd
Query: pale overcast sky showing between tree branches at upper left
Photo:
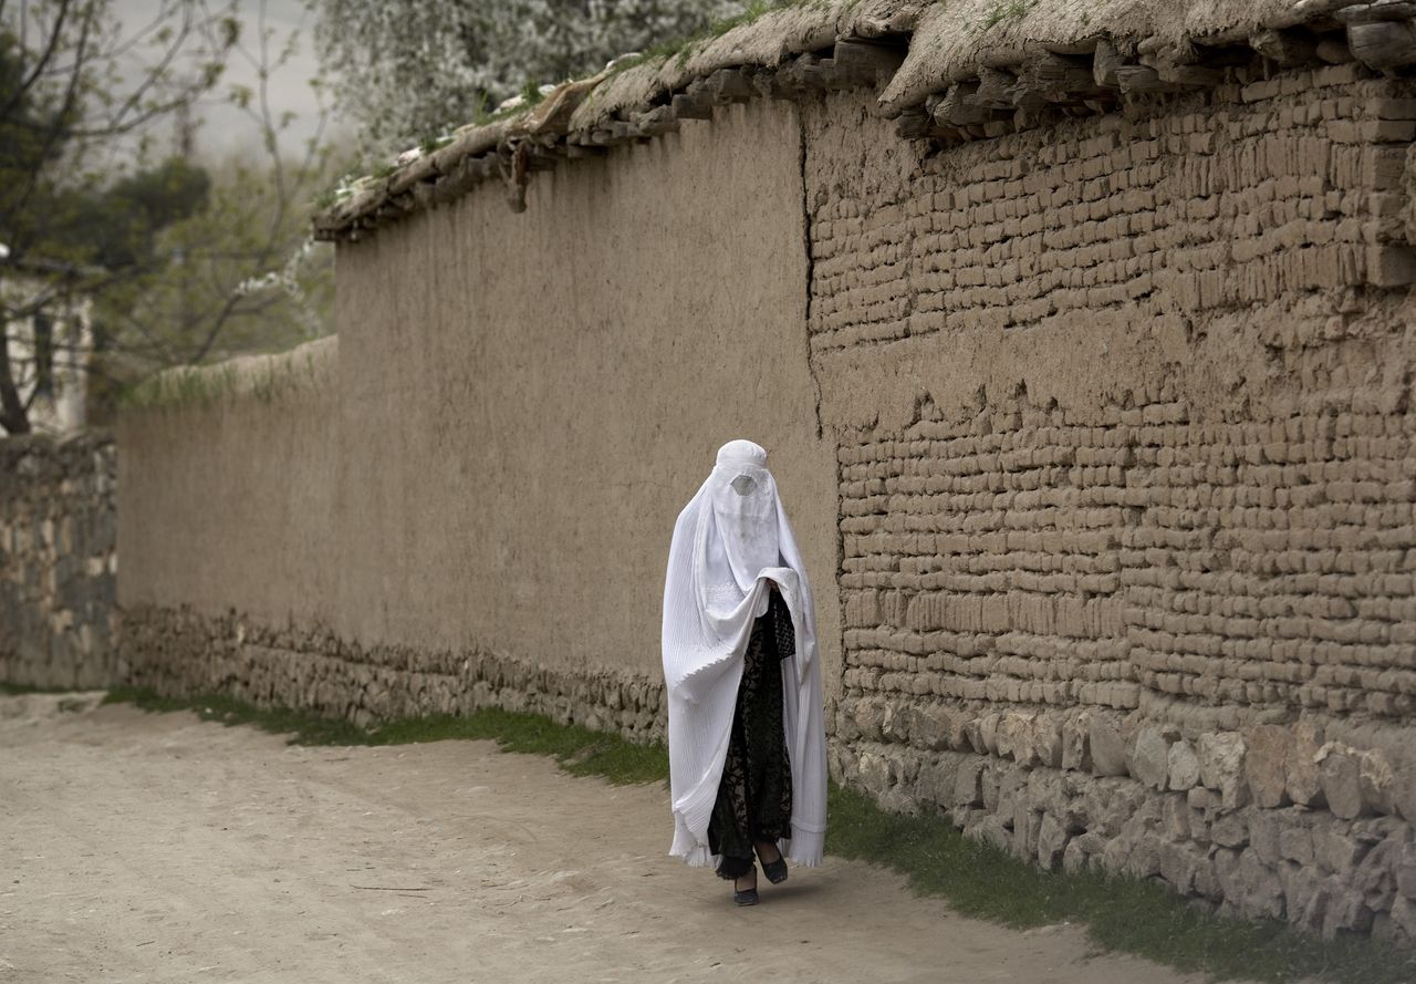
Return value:
[[(144, 27), (153, 17), (157, 4), (154, 0), (113, 0), (113, 11), (123, 23), (123, 34)], [(239, 0), (236, 4), (238, 17), (244, 23), (242, 45), (259, 58), (259, 0)], [(306, 10), (302, 0), (266, 0), (266, 27), (275, 30), (270, 38), (269, 57), (273, 61), (292, 33), (297, 33), (299, 48), (296, 54), (270, 79), (268, 99), (270, 113), (279, 119), (282, 112), (293, 112), (295, 120), (280, 136), (280, 146), (285, 153), (296, 154), (304, 149), (304, 142), (314, 136), (319, 123), (319, 105), (310, 79), (319, 74), (319, 61), (314, 57), (314, 23), (316, 14)], [(217, 88), (197, 108), (197, 116), (205, 122), (197, 130), (195, 146), (202, 156), (225, 156), (241, 147), (259, 149), (261, 133), (256, 123), (228, 102), (228, 92), (232, 85), (246, 85), (252, 89), (258, 86), (256, 68), (239, 52), (234, 52), (227, 62)], [(330, 120), (324, 136), (347, 133), (351, 127)], [(176, 127), (164, 123), (154, 136), (174, 146)]]

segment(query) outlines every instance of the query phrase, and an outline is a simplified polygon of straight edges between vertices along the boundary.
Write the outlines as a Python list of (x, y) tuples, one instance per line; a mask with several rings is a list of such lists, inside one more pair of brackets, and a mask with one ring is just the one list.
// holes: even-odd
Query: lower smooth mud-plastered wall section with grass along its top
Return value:
[(333, 622), (337, 367), (323, 338), (181, 377), (184, 396), (119, 416), (123, 609)]

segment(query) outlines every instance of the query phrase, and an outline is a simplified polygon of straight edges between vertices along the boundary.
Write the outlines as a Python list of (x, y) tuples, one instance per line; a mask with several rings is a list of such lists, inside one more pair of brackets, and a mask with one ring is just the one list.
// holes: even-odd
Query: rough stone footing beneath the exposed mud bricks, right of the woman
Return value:
[(1378, 749), (1323, 742), (1311, 721), (1187, 735), (1093, 711), (848, 695), (835, 726), (840, 782), (1044, 868), (1158, 879), (1328, 937), (1416, 940), (1400, 774)]

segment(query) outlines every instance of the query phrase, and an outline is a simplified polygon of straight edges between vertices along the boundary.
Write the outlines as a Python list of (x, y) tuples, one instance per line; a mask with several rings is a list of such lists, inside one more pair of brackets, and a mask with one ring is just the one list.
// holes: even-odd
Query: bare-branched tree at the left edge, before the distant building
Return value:
[(118, 143), (142, 146), (156, 120), (217, 84), (238, 33), (231, 7), (205, 0), (161, 0), (132, 33), (108, 0), (0, 1), (0, 275), (23, 270), (41, 285), (17, 296), (0, 282), (0, 426), (8, 433), (30, 429), (38, 392), (21, 398), (11, 326), (33, 317), (55, 282), (93, 292), (122, 276), (95, 270), (92, 242), (75, 235), (74, 212), (92, 204), (85, 193), (105, 180)]

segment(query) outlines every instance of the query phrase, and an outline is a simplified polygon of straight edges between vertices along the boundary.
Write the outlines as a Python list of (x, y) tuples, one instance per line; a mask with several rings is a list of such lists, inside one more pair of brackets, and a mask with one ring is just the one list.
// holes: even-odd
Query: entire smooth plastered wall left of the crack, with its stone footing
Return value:
[(545, 178), (524, 215), (484, 187), (341, 249), (337, 353), (317, 343), (304, 384), (126, 415), (135, 680), (658, 735), (670, 534), (746, 436), (818, 579), (834, 687), (796, 108)]

